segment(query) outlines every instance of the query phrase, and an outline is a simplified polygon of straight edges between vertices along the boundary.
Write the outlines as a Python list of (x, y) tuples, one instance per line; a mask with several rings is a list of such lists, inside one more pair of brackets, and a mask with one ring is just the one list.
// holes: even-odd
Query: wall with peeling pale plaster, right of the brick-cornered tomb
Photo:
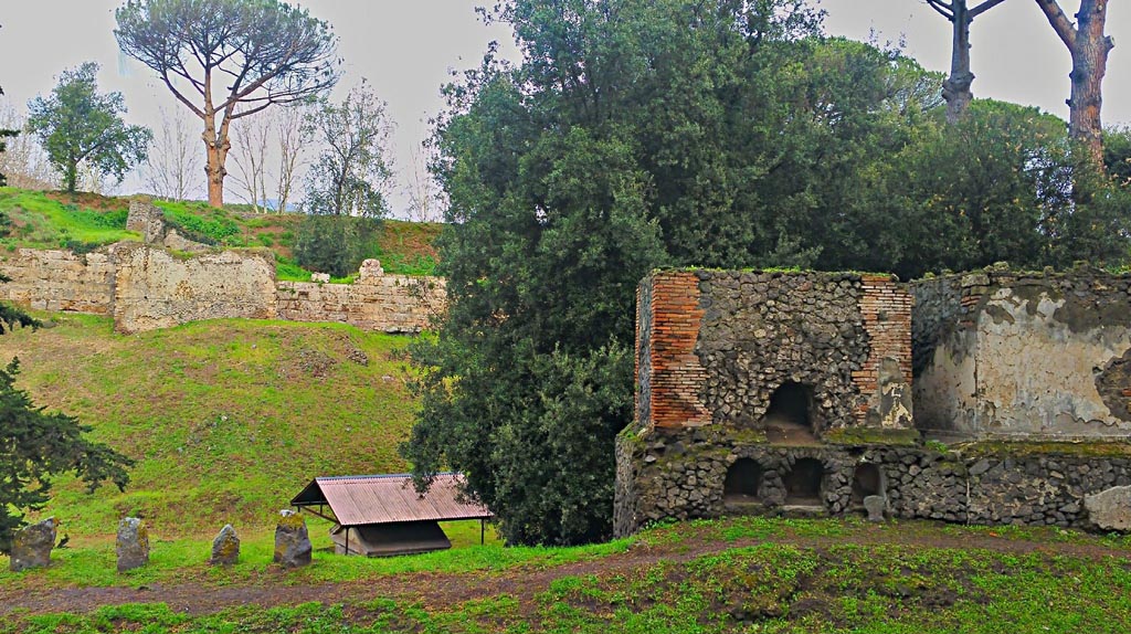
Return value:
[(1131, 436), (1131, 276), (913, 283), (916, 425), (955, 440)]

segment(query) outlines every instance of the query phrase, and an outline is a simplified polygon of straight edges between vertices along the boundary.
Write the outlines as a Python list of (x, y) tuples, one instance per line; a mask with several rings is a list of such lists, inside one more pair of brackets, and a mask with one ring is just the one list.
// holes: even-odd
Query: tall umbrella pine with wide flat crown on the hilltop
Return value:
[(224, 202), (232, 121), (338, 79), (330, 26), (277, 0), (127, 0), (115, 17), (121, 50), (202, 121), (213, 206)]

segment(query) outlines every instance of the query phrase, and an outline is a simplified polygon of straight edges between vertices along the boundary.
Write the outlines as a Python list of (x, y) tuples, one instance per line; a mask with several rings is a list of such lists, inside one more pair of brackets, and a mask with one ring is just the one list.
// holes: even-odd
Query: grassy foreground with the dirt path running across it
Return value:
[(1126, 632), (1129, 554), (1056, 529), (742, 518), (578, 548), (319, 553), (297, 571), (259, 545), (231, 570), (77, 582), (64, 555), (0, 573), (0, 633)]

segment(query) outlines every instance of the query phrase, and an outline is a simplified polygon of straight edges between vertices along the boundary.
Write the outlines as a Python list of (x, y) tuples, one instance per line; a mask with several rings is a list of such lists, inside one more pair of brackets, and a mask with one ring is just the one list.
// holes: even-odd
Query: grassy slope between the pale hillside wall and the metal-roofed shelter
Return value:
[(345, 324), (227, 320), (133, 336), (90, 315), (0, 337), (35, 402), (138, 461), (124, 494), (60, 481), (46, 514), (104, 541), (123, 515), (162, 537), (267, 527), (314, 476), (404, 471), (407, 339)]

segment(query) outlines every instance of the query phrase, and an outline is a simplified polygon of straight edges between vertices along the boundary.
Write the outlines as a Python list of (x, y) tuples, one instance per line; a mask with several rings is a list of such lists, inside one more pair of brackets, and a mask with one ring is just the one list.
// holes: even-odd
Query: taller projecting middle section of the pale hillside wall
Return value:
[(144, 244), (116, 249), (114, 328), (138, 332), (190, 321), (273, 319), (275, 255), (267, 250), (182, 257)]

